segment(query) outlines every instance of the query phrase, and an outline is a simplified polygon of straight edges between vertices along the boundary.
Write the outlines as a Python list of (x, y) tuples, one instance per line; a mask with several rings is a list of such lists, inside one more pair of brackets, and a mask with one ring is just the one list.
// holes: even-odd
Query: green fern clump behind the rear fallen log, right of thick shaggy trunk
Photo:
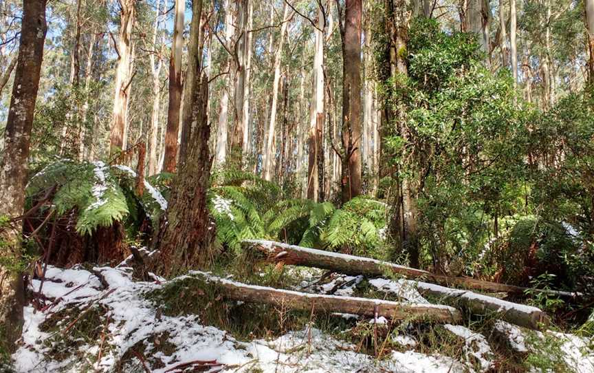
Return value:
[(278, 187), (241, 171), (221, 171), (217, 183), (210, 190), (217, 242), (233, 250), (242, 239), (292, 239), (301, 246), (364, 254), (381, 242), (384, 202), (359, 197), (336, 209), (330, 202), (276, 200)]

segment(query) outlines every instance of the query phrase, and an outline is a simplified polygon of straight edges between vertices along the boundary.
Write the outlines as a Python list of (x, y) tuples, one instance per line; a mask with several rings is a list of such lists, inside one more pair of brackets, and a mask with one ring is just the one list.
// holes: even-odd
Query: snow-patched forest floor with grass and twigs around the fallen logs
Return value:
[[(428, 302), (393, 279), (281, 272), (295, 290), (382, 298), (388, 290)], [(573, 334), (496, 319), (454, 326), (313, 315), (214, 299), (191, 274), (149, 276), (140, 281), (125, 265), (48, 266), (43, 286), (30, 284), (36, 298), (12, 356), (17, 372), (594, 372), (593, 341)]]

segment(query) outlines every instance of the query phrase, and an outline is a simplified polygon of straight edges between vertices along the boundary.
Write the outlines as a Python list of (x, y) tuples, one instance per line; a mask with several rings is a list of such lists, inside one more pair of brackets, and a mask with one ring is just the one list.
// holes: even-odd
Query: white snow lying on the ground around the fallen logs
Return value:
[[(145, 295), (167, 282), (133, 281), (126, 267), (89, 271), (50, 266), (46, 277), (41, 287), (47, 299), (45, 308), (27, 306), (24, 310), (23, 338), (13, 355), (17, 372), (182, 372), (192, 363), (205, 372), (481, 372), (494, 363), (485, 337), (461, 326), (445, 327), (465, 340), (467, 354), (462, 359), (422, 354), (415, 350), (414, 337), (404, 333), (394, 338), (402, 347), (399, 351), (375, 359), (313, 327), (272, 340), (239, 341), (224, 330), (202, 325), (196, 315), (162, 315)], [(348, 296), (360, 281), (362, 277), (337, 276), (326, 284), (304, 281), (303, 288)], [(33, 280), (31, 290), (38, 291), (40, 285), (41, 281)], [(375, 285), (396, 290), (404, 300), (422, 301), (418, 292), (402, 291), (387, 280), (375, 281)], [(89, 340), (74, 330), (93, 309), (102, 313), (92, 334), (96, 338)], [(65, 312), (69, 317), (55, 324), (61, 319), (56, 313)], [(55, 325), (47, 328), (50, 321)], [(521, 336), (521, 331), (514, 333)], [(564, 344), (566, 355), (577, 362), (575, 372), (594, 372), (594, 354), (588, 343), (567, 334), (560, 337), (575, 345)], [(69, 350), (59, 351), (64, 346)]]

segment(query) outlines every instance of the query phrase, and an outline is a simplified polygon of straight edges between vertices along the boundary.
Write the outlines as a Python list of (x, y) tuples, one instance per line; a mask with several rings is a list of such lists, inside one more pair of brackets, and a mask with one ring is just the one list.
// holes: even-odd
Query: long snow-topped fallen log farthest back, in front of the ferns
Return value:
[(296, 266), (323, 268), (344, 273), (345, 275), (382, 276), (388, 271), (403, 275), (408, 279), (422, 279), (423, 281), (434, 282), (442, 286), (459, 286), (461, 288), (485, 292), (507, 292), (513, 295), (523, 295), (526, 290), (530, 290), (531, 292), (542, 292), (554, 297), (575, 297), (577, 295), (573, 292), (523, 288), (522, 286), (482, 281), (473, 279), (472, 277), (435, 275), (426, 270), (399, 266), (398, 264), (383, 262), (381, 260), (332, 253), (316, 250), (315, 248), (281, 244), (279, 242), (248, 239), (243, 241), (243, 247), (248, 249), (255, 248), (261, 251), (270, 262), (284, 262), (285, 264), (294, 264)]

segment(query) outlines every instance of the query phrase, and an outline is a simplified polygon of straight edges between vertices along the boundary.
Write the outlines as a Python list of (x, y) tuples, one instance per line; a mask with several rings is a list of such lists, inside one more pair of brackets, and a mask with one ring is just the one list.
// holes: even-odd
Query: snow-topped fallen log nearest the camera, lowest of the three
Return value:
[(314, 311), (349, 313), (366, 317), (383, 316), (386, 319), (395, 320), (406, 319), (457, 323), (462, 319), (460, 311), (449, 306), (310, 294), (307, 292), (243, 284), (195, 270), (190, 271), (189, 275), (212, 284), (217, 284), (216, 291), (219, 295), (233, 301), (267, 303), (273, 306), (295, 310), (311, 311), (313, 308)]

